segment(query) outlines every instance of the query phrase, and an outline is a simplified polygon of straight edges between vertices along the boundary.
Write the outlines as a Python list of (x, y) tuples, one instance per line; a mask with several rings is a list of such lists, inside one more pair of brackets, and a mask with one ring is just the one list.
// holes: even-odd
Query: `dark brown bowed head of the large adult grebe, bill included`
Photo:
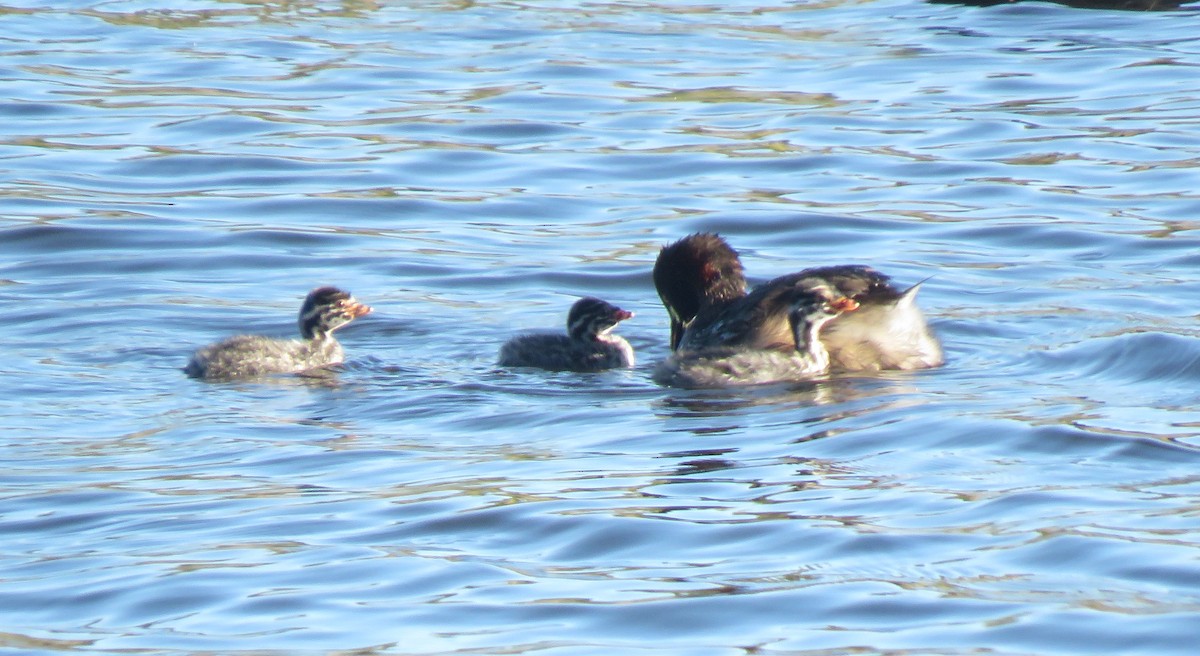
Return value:
[(654, 263), (654, 288), (671, 315), (671, 349), (684, 329), (708, 306), (742, 297), (742, 260), (724, 237), (696, 233), (665, 246)]

